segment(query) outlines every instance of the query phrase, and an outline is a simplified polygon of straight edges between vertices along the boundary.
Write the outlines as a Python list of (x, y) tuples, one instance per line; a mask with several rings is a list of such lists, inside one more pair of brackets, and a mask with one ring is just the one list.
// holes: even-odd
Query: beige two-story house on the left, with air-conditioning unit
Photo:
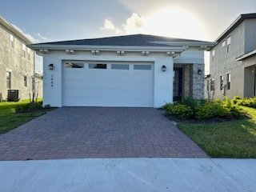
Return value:
[(31, 43), (20, 30), (0, 17), (0, 100), (30, 97), (34, 50), (26, 45)]

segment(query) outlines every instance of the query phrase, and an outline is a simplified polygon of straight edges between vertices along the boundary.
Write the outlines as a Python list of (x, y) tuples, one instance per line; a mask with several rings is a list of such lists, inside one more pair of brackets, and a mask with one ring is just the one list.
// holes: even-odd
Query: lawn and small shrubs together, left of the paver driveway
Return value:
[[(21, 126), (25, 122), (29, 122), (33, 118), (37, 118), (42, 114), (46, 114), (47, 111), (52, 110), (50, 108), (43, 108), (42, 102), (36, 102), (32, 105), (29, 104), (29, 100), (23, 100), (21, 102), (0, 102), (0, 134), (4, 134), (9, 130)], [(27, 110), (31, 106), (30, 110)], [(16, 110), (19, 111), (16, 112)], [(21, 113), (19, 113), (21, 112)]]

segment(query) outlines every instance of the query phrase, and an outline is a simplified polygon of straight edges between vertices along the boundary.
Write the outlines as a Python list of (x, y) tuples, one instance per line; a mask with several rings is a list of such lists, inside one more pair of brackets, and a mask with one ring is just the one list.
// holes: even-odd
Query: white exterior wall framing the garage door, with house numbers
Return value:
[[(165, 53), (150, 53), (141, 56), (137, 53), (126, 53), (118, 56), (115, 52), (101, 52), (93, 55), (90, 52), (66, 54), (65, 51), (52, 51), (43, 55), (43, 104), (50, 106), (62, 105), (62, 60), (86, 60), (98, 62), (154, 62), (154, 107), (161, 107), (166, 102), (173, 102), (173, 58)], [(49, 70), (50, 63), (54, 70)], [(162, 72), (162, 66), (167, 67)]]

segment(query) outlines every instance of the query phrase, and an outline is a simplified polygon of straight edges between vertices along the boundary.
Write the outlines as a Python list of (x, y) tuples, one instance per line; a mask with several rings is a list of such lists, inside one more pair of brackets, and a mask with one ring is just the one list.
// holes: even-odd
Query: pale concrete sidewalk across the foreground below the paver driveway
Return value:
[(85, 158), (0, 162), (0, 191), (256, 191), (256, 160)]

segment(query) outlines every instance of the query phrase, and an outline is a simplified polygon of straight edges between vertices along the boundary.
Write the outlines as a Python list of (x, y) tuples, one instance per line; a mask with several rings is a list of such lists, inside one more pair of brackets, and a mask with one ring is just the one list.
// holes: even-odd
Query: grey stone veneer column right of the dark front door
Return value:
[[(204, 98), (204, 74), (205, 74), (205, 66), (204, 64), (196, 64), (192, 65), (192, 70), (190, 70), (190, 75), (192, 75), (192, 97), (195, 99)], [(202, 74), (198, 74), (198, 70), (202, 70)]]

